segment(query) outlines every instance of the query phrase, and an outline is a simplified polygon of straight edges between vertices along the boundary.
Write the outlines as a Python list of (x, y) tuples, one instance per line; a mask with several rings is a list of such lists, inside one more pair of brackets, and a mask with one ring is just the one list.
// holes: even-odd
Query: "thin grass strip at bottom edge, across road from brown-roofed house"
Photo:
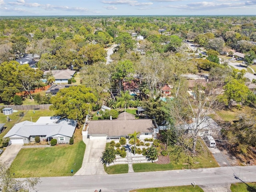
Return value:
[(130, 192), (204, 192), (200, 187), (196, 186), (174, 186), (174, 187), (158, 187), (158, 188), (146, 188), (136, 189)]

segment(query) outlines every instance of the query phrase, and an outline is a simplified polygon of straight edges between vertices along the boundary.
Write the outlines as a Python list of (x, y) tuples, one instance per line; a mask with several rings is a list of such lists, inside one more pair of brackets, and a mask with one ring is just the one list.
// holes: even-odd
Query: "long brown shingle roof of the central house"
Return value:
[[(134, 119), (132, 114), (124, 114), (115, 120), (91, 120), (88, 128), (88, 134), (108, 134), (108, 136), (122, 136), (136, 132), (153, 132), (154, 125), (151, 119)], [(127, 115), (127, 116), (126, 116)], [(133, 119), (131, 119), (131, 116)], [(126, 116), (126, 120), (122, 119)]]

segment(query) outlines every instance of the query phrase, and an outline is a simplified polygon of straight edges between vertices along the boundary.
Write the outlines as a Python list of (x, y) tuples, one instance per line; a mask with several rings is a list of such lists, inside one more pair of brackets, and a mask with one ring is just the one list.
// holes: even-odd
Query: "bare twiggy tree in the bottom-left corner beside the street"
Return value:
[(29, 192), (40, 183), (39, 178), (26, 178), (17, 180), (15, 174), (11, 172), (11, 168), (0, 162), (0, 189), (2, 192)]

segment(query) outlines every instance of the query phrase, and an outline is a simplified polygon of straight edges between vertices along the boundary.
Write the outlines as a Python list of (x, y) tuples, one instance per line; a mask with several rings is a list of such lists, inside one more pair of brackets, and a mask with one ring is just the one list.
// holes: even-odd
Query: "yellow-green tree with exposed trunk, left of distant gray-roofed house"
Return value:
[(18, 66), (18, 79), (20, 84), (28, 92), (30, 98), (32, 98), (31, 89), (40, 84), (43, 77), (43, 72), (33, 68), (30, 68), (28, 64)]

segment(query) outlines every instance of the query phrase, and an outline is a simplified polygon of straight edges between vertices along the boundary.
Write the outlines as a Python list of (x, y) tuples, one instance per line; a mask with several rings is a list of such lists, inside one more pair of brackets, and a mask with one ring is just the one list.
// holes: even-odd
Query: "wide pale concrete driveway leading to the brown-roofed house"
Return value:
[(104, 138), (91, 138), (83, 137), (86, 144), (84, 153), (84, 160), (82, 167), (75, 175), (103, 175), (107, 174), (104, 170), (100, 157), (106, 147), (106, 137)]

